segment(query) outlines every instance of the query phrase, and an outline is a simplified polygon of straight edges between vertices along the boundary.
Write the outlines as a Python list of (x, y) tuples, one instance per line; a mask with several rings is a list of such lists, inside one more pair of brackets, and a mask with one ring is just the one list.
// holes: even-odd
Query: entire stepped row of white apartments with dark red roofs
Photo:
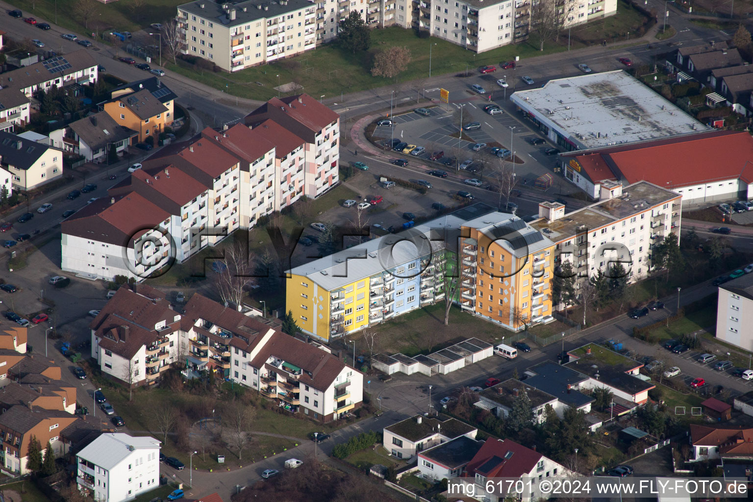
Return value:
[(162, 148), (63, 221), (62, 269), (141, 280), (339, 183), (340, 118), (316, 99), (273, 99), (245, 120)]

